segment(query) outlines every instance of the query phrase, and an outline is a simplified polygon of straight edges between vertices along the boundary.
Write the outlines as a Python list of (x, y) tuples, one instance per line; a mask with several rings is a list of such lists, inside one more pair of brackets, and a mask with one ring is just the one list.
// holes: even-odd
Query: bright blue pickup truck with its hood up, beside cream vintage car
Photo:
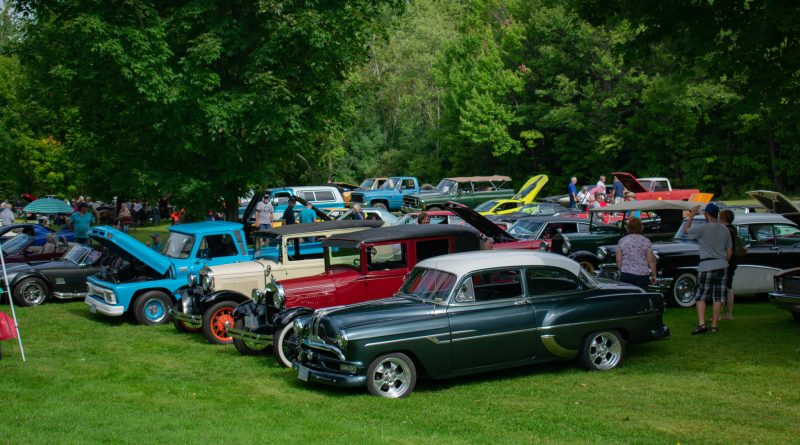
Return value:
[(170, 321), (175, 291), (207, 266), (249, 261), (243, 226), (209, 221), (169, 229), (161, 252), (107, 226), (92, 227), (89, 237), (108, 250), (100, 272), (88, 278), (84, 302), (93, 313), (121, 316), (133, 312), (141, 324)]

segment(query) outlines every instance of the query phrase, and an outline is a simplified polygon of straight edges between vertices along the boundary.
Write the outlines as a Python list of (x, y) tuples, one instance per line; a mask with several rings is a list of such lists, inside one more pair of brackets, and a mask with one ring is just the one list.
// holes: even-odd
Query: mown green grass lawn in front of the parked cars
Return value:
[[(742, 299), (744, 300), (744, 299)], [(8, 306), (0, 306), (8, 312)], [(17, 309), (28, 362), (0, 360), (0, 443), (797, 443), (800, 323), (743, 301), (718, 334), (629, 348), (622, 366), (573, 362), (447, 381), (404, 400), (305, 384), (172, 325)]]

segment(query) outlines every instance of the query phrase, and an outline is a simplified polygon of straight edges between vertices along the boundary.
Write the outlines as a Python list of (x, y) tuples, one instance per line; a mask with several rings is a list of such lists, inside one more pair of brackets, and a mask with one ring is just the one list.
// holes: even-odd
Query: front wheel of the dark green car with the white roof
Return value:
[(417, 384), (417, 368), (405, 354), (382, 355), (367, 368), (367, 389), (370, 394), (400, 399), (411, 394)]

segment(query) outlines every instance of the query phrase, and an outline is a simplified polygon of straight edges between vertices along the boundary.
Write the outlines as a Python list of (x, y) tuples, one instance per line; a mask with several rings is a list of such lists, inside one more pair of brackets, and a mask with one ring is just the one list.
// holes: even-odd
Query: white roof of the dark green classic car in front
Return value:
[(450, 272), (459, 277), (476, 270), (524, 266), (560, 267), (575, 275), (578, 275), (581, 268), (578, 263), (563, 255), (534, 250), (480, 250), (454, 253), (429, 258), (417, 264), (417, 267)]

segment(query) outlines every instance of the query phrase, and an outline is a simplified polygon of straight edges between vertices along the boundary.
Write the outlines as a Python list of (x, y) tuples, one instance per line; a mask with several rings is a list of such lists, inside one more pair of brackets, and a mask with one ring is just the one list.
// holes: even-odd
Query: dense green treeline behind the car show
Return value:
[(5, 194), (155, 196), (621, 169), (800, 188), (800, 4), (12, 2)]

